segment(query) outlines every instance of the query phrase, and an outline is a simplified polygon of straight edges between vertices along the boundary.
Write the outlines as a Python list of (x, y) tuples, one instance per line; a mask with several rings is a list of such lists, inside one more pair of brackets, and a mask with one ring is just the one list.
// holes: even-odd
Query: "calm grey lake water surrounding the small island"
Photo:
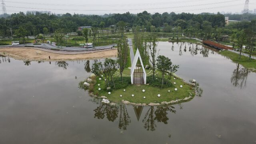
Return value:
[(92, 61), (0, 56), (0, 144), (256, 143), (256, 73), (195, 44), (158, 48), (180, 65), (178, 76), (199, 82), (201, 97), (165, 107), (110, 107), (78, 88)]

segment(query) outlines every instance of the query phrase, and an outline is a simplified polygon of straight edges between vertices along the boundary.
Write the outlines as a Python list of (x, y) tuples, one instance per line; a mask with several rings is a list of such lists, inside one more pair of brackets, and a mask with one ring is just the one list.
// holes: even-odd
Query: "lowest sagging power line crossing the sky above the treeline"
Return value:
[[(109, 11), (129, 11), (129, 10), (158, 10), (158, 9), (168, 9), (168, 8), (184, 8), (184, 7), (194, 7), (194, 6), (206, 6), (212, 4), (222, 4), (227, 2), (236, 2), (241, 0), (230, 0), (225, 2), (214, 2), (208, 4), (195, 4), (195, 5), (187, 5), (187, 6), (173, 6), (173, 7), (161, 7), (161, 8), (138, 8), (138, 9), (111, 9), (111, 10), (79, 10), (79, 9), (53, 9), (53, 8), (34, 8), (34, 7), (21, 7), (21, 6), (6, 6), (10, 8), (26, 8), (26, 9), (35, 9), (35, 10), (63, 10), (63, 11), (101, 11), (101, 12), (109, 12)], [(240, 4), (237, 4), (240, 5)], [(230, 5), (229, 5), (230, 6)], [(217, 7), (218, 8), (218, 7)], [(208, 8), (206, 8), (208, 9)], [(196, 9), (197, 10), (197, 9)]]

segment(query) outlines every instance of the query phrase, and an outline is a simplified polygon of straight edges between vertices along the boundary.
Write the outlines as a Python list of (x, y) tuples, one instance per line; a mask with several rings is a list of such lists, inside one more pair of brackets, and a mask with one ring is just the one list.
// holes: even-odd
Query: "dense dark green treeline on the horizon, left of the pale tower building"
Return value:
[[(98, 15), (83, 15), (83, 14), (24, 14), (23, 12), (11, 14), (6, 18), (0, 18), (0, 30), (2, 35), (9, 36), (10, 28), (12, 30), (18, 30), (23, 27), (28, 35), (32, 35), (33, 30), (38, 30), (40, 33), (44, 33), (44, 28), (48, 29), (49, 33), (53, 33), (55, 30), (62, 28), (66, 32), (76, 32), (79, 26), (93, 26), (100, 27), (100, 23), (104, 22), (104, 28), (116, 25), (118, 22), (123, 21), (128, 28), (135, 26), (144, 26), (146, 31), (150, 32), (150, 27), (154, 26), (163, 29), (163, 32), (172, 32), (172, 28), (179, 27), (180, 29), (194, 28), (195, 30), (203, 29), (207, 25), (211, 25), (212, 28), (223, 28), (225, 26), (224, 15), (217, 14), (190, 14), (181, 13), (175, 14), (174, 12), (163, 14), (155, 13), (150, 14), (146, 11), (131, 14), (126, 12), (124, 14), (112, 14), (109, 16)], [(241, 24), (240, 24), (241, 25)], [(232, 27), (246, 27), (246, 24), (241, 26), (233, 25)]]

